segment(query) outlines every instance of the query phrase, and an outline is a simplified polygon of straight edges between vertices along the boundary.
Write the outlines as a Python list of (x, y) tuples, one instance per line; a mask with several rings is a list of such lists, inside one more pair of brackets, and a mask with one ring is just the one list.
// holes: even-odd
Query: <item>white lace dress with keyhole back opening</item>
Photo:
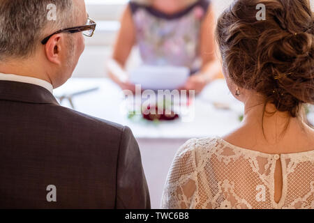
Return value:
[[(283, 189), (276, 203), (278, 159)], [(271, 155), (219, 137), (190, 139), (174, 157), (161, 208), (314, 208), (314, 151)]]

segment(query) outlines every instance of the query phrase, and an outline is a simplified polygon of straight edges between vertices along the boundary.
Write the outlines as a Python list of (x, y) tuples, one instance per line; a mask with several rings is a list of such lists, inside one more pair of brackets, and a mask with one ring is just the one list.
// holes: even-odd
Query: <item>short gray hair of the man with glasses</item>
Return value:
[[(50, 4), (57, 20), (48, 20)], [(0, 61), (27, 58), (43, 38), (73, 23), (72, 0), (0, 0)]]

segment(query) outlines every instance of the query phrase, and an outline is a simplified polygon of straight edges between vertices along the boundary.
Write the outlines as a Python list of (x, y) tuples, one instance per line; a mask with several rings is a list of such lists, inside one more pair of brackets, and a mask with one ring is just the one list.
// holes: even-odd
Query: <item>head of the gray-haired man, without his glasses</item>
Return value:
[(61, 86), (84, 51), (82, 33), (57, 33), (45, 45), (41, 41), (86, 22), (84, 0), (0, 0), (0, 72)]

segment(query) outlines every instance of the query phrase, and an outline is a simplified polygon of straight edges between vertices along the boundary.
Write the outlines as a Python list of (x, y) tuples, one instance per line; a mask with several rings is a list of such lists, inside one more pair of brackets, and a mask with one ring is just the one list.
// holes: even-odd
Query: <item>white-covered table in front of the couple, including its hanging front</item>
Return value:
[[(152, 208), (160, 207), (167, 173), (179, 146), (190, 138), (223, 136), (232, 131), (239, 125), (239, 116), (244, 109), (232, 97), (222, 79), (213, 82), (197, 95), (193, 104), (195, 118), (188, 123), (180, 120), (159, 124), (131, 121), (121, 109), (125, 101), (121, 89), (105, 78), (73, 78), (55, 89), (54, 95), (58, 97), (94, 87), (98, 87), (98, 90), (73, 98), (75, 110), (131, 128), (140, 146)], [(214, 102), (227, 103), (231, 109), (218, 109)], [(61, 105), (70, 107), (64, 100)]]

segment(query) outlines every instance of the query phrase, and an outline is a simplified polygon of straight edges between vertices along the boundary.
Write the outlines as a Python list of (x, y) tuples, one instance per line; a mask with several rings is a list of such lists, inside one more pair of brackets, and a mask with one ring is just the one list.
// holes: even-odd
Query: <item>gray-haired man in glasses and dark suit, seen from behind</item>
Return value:
[(150, 208), (130, 129), (52, 95), (94, 33), (87, 17), (83, 0), (0, 0), (0, 208)]

